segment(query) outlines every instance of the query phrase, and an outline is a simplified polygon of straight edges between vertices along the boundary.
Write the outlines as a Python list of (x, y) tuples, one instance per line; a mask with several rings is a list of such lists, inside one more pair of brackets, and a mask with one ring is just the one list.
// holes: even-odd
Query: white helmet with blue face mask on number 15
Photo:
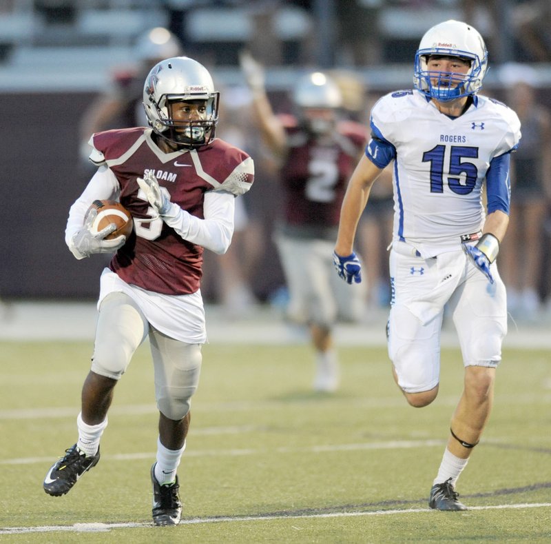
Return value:
[[(429, 72), (430, 55), (460, 57), (470, 61), (467, 74), (455, 72)], [(488, 68), (488, 51), (479, 32), (461, 21), (444, 21), (430, 28), (421, 39), (415, 54), (413, 86), (441, 102), (475, 94), (482, 88)], [(431, 81), (431, 74), (433, 81)]]

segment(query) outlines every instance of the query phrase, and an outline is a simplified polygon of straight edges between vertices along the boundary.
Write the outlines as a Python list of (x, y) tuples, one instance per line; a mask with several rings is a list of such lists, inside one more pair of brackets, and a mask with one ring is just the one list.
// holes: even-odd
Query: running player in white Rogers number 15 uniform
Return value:
[(484, 40), (466, 23), (445, 21), (426, 32), (415, 55), (414, 89), (387, 94), (373, 107), (372, 137), (349, 181), (333, 254), (342, 279), (361, 281), (353, 252), (357, 223), (371, 186), (394, 161), (387, 331), (395, 381), (410, 405), (434, 401), (445, 306), (465, 367), (430, 490), (437, 510), (466, 510), (455, 483), (488, 421), (507, 331), (496, 257), (508, 225), (510, 153), (521, 133), (517, 114), (477, 94), (487, 62)]

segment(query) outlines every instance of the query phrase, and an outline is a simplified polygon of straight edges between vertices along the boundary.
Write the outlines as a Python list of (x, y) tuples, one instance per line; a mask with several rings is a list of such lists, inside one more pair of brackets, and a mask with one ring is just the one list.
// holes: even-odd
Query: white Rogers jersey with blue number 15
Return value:
[[(521, 137), (514, 111), (487, 97), (473, 99), (455, 119), (411, 90), (387, 94), (371, 112), (375, 139), (395, 148), (393, 240), (410, 243), (424, 258), (457, 250), (462, 235), (481, 230), (490, 163)], [(377, 152), (368, 145), (368, 158), (379, 165)], [(508, 175), (503, 185), (508, 196)]]

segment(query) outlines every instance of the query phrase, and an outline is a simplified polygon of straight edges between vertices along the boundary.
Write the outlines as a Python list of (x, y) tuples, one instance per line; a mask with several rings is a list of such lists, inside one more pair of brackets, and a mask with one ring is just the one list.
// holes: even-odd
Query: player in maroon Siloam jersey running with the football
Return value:
[[(65, 241), (76, 259), (116, 254), (101, 275), (92, 368), (82, 390), (78, 441), (48, 471), (43, 487), (67, 493), (99, 460), (114, 386), (149, 336), (159, 410), (152, 466), (153, 520), (176, 525), (182, 506), (176, 470), (185, 449), (201, 345), (207, 340), (200, 279), (204, 248), (223, 254), (233, 234), (235, 197), (253, 182), (253, 161), (214, 138), (219, 93), (207, 69), (187, 57), (158, 63), (147, 76), (143, 103), (150, 128), (92, 135), (98, 166), (72, 205)], [(83, 225), (95, 199), (118, 199), (134, 232), (106, 240)]]

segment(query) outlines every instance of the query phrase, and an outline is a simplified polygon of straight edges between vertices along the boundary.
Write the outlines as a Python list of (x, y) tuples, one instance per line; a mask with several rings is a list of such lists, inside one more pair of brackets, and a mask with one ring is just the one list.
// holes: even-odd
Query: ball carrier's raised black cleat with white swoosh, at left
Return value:
[(48, 495), (61, 496), (69, 492), (76, 481), (99, 461), (99, 449), (95, 455), (86, 456), (76, 444), (65, 450), (65, 457), (59, 459), (44, 478), (44, 491)]

